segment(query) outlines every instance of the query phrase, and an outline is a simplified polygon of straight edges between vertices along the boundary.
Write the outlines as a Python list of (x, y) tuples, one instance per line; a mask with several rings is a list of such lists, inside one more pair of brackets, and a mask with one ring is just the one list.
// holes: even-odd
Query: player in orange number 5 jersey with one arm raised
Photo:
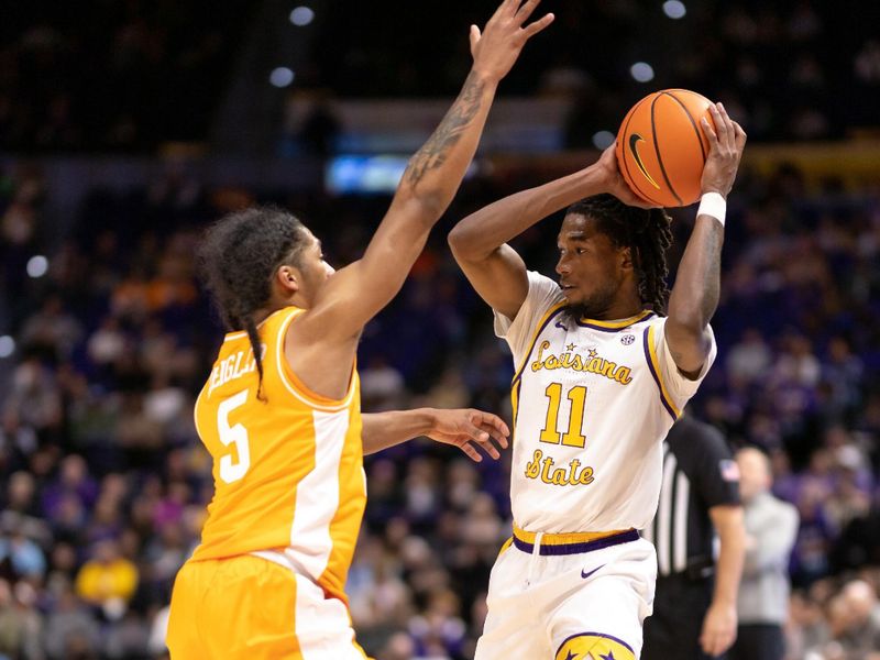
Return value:
[(251, 209), (220, 220), (201, 260), (228, 326), (196, 402), (213, 458), (201, 544), (174, 585), (175, 660), (363, 659), (343, 586), (365, 505), (364, 452), (425, 433), (497, 457), (506, 427), (477, 411), (360, 413), (355, 351), (400, 289), (473, 158), (501, 79), (553, 20), (504, 0), (433, 135), (409, 161), (363, 258), (334, 272), (296, 218)]

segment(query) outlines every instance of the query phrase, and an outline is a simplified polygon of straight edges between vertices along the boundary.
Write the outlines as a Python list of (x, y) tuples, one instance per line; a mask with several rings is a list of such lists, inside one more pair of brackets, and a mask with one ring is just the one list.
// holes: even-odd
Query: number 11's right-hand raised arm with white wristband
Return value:
[[(708, 136), (710, 153), (703, 168), (703, 195), (714, 193), (727, 199), (736, 179), (739, 158), (746, 145), (746, 133), (730, 120), (724, 106), (711, 106), (713, 131), (703, 120), (703, 131)], [(721, 288), (721, 257), (724, 243), (724, 204), (713, 212), (721, 218), (697, 211), (696, 222), (679, 265), (675, 285), (669, 297), (669, 318), (666, 338), (670, 354), (678, 367), (689, 376), (696, 376), (712, 349), (708, 321), (718, 306)], [(701, 204), (700, 209), (705, 207)]]

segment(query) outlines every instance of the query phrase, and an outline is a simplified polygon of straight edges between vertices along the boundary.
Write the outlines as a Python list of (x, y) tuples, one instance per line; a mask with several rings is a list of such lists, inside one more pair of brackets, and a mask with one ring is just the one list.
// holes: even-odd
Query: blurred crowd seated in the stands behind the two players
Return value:
[[(462, 189), (365, 330), (365, 410), (475, 406), (509, 420), (509, 354), (444, 238), (544, 178)], [(0, 658), (161, 658), (173, 580), (212, 494), (191, 407), (223, 330), (194, 273), (199, 231), (254, 200), (283, 204), (339, 266), (388, 200), (206, 188), (177, 168), (92, 190), (59, 235), (45, 187), (35, 167), (0, 173)], [(674, 213), (673, 264), (692, 215)], [(727, 228), (721, 356), (693, 409), (733, 446), (766, 449), (777, 494), (801, 513), (790, 657), (864, 658), (880, 630), (880, 188), (745, 172)], [(557, 231), (548, 220), (518, 240), (531, 267), (552, 273)], [(472, 657), (510, 532), (508, 457), (473, 463), (422, 439), (367, 459), (348, 592), (380, 660)]]

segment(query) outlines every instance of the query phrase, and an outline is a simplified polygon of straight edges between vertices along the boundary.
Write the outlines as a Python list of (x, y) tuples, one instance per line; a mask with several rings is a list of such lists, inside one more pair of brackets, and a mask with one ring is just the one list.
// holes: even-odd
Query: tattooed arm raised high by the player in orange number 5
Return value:
[[(498, 82), (529, 37), (553, 20), (547, 14), (527, 23), (538, 3), (504, 0), (482, 33), (471, 26), (473, 67), (464, 87), (428, 142), (410, 158), (363, 257), (330, 277), (315, 299), (306, 301), (304, 318), (292, 323), (288, 337), (295, 341), (287, 345), (295, 344), (297, 353), (288, 359), (317, 392), (328, 396), (344, 392), (345, 383), (327, 382), (320, 364), (343, 359), (342, 353), (353, 355), (363, 326), (403, 286), (473, 158)], [(310, 352), (316, 353), (314, 359)]]

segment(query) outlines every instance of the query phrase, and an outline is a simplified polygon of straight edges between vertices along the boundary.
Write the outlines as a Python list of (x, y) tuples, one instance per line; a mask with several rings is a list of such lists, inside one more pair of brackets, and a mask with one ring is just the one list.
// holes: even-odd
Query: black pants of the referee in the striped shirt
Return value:
[(712, 603), (711, 578), (683, 575), (657, 579), (653, 614), (645, 619), (641, 660), (703, 660), (700, 649), (703, 618)]

